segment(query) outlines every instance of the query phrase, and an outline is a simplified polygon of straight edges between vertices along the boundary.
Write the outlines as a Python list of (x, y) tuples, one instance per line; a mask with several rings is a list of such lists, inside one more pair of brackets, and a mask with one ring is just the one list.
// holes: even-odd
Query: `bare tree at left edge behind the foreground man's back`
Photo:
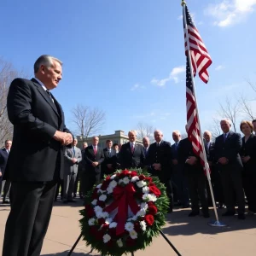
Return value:
[(6, 139), (13, 137), (13, 125), (9, 122), (7, 113), (7, 95), (9, 84), (23, 72), (18, 72), (12, 63), (0, 57), (0, 147)]

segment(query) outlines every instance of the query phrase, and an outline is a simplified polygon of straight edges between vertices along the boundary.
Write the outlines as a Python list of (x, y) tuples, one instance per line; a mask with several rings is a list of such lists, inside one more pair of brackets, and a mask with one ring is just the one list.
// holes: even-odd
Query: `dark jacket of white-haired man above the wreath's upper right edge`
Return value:
[[(172, 176), (172, 148), (171, 143), (162, 141), (160, 146), (157, 147), (156, 143), (152, 143), (148, 148), (148, 155), (146, 160), (150, 166), (151, 173), (160, 179), (171, 178)], [(161, 165), (161, 170), (156, 171), (152, 166), (155, 163)]]

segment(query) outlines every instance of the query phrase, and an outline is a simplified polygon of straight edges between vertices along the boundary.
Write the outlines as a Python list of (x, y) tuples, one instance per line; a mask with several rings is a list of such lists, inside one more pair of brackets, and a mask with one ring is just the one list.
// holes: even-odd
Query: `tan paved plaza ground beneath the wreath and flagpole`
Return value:
[[(72, 206), (55, 202), (49, 230), (44, 239), (41, 255), (65, 256), (79, 236), (79, 210), (82, 201)], [(163, 232), (177, 247), (183, 256), (255, 256), (256, 255), (256, 216), (247, 215), (245, 220), (236, 217), (222, 218), (229, 224), (228, 228), (213, 228), (207, 225), (208, 219), (202, 217), (188, 218), (189, 209), (174, 210), (167, 215)], [(223, 212), (219, 211), (219, 213)], [(3, 233), (9, 206), (0, 204), (0, 251), (3, 247)], [(211, 211), (211, 219), (214, 217)], [(73, 256), (100, 255), (90, 253), (84, 241), (79, 241)], [(163, 237), (154, 239), (145, 251), (138, 251), (135, 256), (176, 255)]]

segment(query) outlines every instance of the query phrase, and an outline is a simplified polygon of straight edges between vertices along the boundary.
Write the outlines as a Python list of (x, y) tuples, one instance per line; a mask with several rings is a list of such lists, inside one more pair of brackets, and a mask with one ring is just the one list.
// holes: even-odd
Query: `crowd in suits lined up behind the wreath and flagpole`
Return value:
[[(212, 141), (210, 131), (203, 134), (207, 161), (211, 171), (211, 182), (218, 208), (226, 207), (224, 216), (235, 215), (237, 205), (238, 218), (245, 218), (245, 204), (250, 213), (256, 213), (256, 120), (242, 121), (241, 132), (230, 131), (230, 121), (220, 122), (222, 131)], [(155, 143), (150, 144), (148, 137), (143, 137), (143, 145), (136, 143), (136, 131), (129, 131), (129, 143), (114, 144), (107, 140), (106, 148), (98, 147), (99, 137), (93, 137), (91, 145), (83, 143), (77, 148), (78, 141), (73, 141), (73, 148), (65, 153), (64, 182), (60, 181), (61, 200), (64, 203), (81, 199), (95, 183), (100, 183), (104, 175), (118, 169), (144, 168), (151, 175), (160, 178), (166, 185), (170, 199), (169, 212), (173, 207), (187, 208), (191, 202), (189, 217), (200, 214), (209, 217), (212, 207), (206, 172), (198, 156), (195, 155), (189, 138), (182, 139), (179, 131), (172, 132), (174, 144), (163, 140), (161, 131), (154, 131)], [(79, 186), (78, 186), (79, 183)], [(78, 192), (79, 187), (79, 192)], [(59, 189), (56, 191), (55, 201)]]

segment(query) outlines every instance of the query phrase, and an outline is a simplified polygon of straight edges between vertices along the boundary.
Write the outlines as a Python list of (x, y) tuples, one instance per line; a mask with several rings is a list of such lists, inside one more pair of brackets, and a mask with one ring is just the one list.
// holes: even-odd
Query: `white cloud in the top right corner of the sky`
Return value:
[(205, 14), (213, 17), (215, 26), (232, 26), (253, 13), (255, 5), (256, 0), (224, 0), (209, 4)]

